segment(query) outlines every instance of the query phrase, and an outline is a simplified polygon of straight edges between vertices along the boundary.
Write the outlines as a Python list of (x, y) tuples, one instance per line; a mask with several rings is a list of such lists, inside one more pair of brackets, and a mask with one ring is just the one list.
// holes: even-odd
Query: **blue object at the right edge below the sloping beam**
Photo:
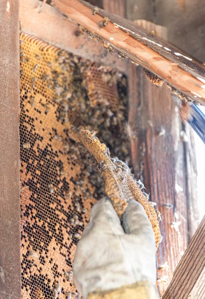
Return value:
[(190, 104), (190, 108), (191, 113), (187, 121), (205, 144), (205, 115), (194, 103)]

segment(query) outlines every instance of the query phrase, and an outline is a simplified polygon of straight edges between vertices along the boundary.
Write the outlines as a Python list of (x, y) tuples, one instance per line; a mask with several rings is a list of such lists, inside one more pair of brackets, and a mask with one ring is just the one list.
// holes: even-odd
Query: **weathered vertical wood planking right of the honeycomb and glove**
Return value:
[[(146, 26), (153, 29), (154, 24), (147, 22)], [(165, 34), (161, 27), (154, 30)], [(190, 128), (185, 132), (166, 86), (153, 86), (141, 67), (132, 66), (128, 83), (134, 172), (144, 181), (162, 217), (163, 240), (157, 252), (157, 281), (162, 295), (197, 226), (194, 144), (191, 138), (182, 138), (186, 133), (190, 137)]]

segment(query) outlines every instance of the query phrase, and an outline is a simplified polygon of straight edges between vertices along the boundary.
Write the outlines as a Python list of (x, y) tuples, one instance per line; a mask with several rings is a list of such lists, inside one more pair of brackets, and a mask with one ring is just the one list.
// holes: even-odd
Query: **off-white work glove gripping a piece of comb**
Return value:
[(108, 197), (91, 209), (73, 262), (73, 280), (86, 299), (140, 281), (156, 282), (155, 237), (144, 208), (130, 201), (120, 220)]

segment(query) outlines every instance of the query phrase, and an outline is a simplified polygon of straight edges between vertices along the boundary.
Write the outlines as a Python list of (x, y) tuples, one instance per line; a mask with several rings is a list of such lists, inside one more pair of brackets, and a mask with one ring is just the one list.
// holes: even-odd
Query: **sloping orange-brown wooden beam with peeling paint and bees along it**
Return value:
[[(94, 7), (88, 3), (53, 0), (52, 5), (85, 27), (89, 36), (100, 38), (111, 52), (116, 49), (119, 55), (129, 57), (182, 93), (205, 104), (205, 68), (187, 54), (153, 38), (126, 19), (101, 9), (93, 14)], [(104, 19), (105, 16), (108, 18)]]

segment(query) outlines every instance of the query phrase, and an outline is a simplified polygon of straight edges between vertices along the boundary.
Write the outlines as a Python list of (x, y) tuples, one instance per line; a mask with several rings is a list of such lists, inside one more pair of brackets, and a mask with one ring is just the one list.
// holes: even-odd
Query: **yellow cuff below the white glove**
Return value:
[(103, 292), (92, 292), (88, 299), (159, 299), (156, 286), (149, 282), (137, 282), (132, 285), (125, 285), (118, 289)]

